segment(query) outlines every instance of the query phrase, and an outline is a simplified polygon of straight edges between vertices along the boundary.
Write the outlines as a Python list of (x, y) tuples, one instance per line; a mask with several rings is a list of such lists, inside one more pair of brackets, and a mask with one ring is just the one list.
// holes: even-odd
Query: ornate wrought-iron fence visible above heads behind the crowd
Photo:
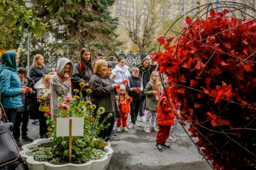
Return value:
[(150, 53), (143, 54), (141, 52), (138, 53), (124, 53), (123, 51), (121, 53), (114, 53), (115, 57), (118, 59), (119, 57), (124, 57), (125, 59), (125, 64), (128, 65), (129, 67), (133, 67), (135, 65), (140, 65), (141, 60), (144, 59), (145, 57), (150, 58)]

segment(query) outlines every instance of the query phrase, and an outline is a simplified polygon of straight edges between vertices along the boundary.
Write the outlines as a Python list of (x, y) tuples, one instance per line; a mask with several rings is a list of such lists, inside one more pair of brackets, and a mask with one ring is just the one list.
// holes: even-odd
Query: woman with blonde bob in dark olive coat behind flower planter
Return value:
[[(109, 79), (107, 79), (104, 75), (108, 69), (108, 63), (100, 59), (95, 63), (95, 75), (92, 76), (89, 82), (89, 88), (92, 89), (92, 93), (90, 94), (92, 103), (96, 105), (96, 111), (98, 108), (105, 108), (105, 112), (100, 115), (99, 123), (103, 122), (106, 117), (108, 117), (109, 113), (114, 113), (115, 111), (119, 111), (118, 103), (115, 99), (115, 91), (114, 88), (118, 87), (117, 84), (111, 84)], [(107, 119), (106, 122), (103, 122), (103, 125), (108, 125), (110, 119)], [(105, 128), (100, 131), (100, 134), (97, 137), (101, 137), (104, 140), (108, 141), (108, 131), (112, 130), (109, 128)]]

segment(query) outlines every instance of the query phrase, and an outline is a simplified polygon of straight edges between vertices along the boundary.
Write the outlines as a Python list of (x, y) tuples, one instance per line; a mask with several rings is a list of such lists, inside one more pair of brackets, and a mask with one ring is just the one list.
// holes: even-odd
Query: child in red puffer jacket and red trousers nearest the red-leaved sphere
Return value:
[(165, 96), (164, 89), (161, 90), (161, 97), (159, 101), (159, 108), (157, 110), (157, 125), (159, 125), (159, 131), (156, 135), (156, 150), (162, 151), (162, 148), (170, 148), (166, 144), (166, 140), (169, 137), (170, 134), (170, 126), (174, 125), (174, 117), (173, 110), (175, 109), (173, 107), (170, 108), (169, 102), (167, 100), (167, 97)]

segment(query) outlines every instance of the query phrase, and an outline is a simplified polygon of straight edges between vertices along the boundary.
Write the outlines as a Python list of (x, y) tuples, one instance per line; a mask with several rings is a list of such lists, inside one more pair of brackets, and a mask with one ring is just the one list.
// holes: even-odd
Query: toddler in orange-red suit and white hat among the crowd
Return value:
[(132, 102), (132, 97), (129, 97), (128, 94), (126, 94), (126, 87), (124, 85), (121, 85), (119, 88), (120, 91), (120, 102), (118, 103), (119, 111), (121, 114), (121, 117), (118, 118), (118, 124), (116, 131), (121, 132), (121, 125), (123, 123), (124, 131), (128, 132), (127, 128), (127, 118), (129, 114), (129, 102)]

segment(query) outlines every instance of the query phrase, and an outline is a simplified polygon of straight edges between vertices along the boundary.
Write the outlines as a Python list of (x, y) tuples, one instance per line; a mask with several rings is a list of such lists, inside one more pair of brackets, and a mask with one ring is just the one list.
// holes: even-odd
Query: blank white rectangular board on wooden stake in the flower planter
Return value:
[(69, 120), (72, 120), (72, 137), (83, 136), (84, 118), (57, 118), (57, 137), (69, 137)]

